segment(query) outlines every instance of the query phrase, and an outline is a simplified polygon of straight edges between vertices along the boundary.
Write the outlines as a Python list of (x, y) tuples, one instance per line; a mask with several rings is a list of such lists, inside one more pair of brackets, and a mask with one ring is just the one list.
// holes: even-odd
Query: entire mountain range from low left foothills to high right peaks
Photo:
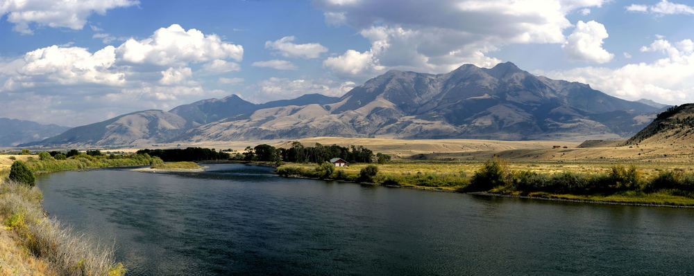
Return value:
[(29, 145), (115, 146), (312, 136), (585, 140), (625, 138), (663, 107), (551, 80), (511, 62), (450, 73), (388, 71), (340, 98), (253, 104), (237, 95), (129, 113)]

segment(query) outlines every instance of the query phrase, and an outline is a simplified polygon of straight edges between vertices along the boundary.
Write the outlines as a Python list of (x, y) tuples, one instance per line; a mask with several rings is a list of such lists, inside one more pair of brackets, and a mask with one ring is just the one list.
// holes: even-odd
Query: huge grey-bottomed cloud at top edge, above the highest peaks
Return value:
[(509, 44), (563, 44), (566, 15), (599, 8), (604, 0), (316, 0), (327, 24), (357, 28), (368, 49), (348, 49), (323, 66), (341, 77), (387, 69), (427, 73), (466, 63), (493, 66), (489, 56)]

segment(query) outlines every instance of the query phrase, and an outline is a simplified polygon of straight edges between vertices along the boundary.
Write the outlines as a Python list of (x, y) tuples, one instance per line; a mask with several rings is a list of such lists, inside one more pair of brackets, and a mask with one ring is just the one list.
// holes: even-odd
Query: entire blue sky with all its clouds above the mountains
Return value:
[(76, 127), (500, 62), (682, 104), (694, 102), (691, 26), (685, 0), (0, 0), (0, 117)]

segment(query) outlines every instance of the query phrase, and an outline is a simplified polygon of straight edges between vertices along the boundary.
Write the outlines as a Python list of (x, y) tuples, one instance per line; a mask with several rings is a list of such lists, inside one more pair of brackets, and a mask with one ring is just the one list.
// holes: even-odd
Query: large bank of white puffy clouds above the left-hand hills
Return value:
[[(224, 91), (203, 89), (198, 77), (238, 71), (242, 57), (242, 46), (178, 25), (94, 52), (76, 46), (38, 48), (0, 59), (0, 111), (26, 120), (40, 114), (42, 122), (76, 126), (105, 120), (108, 114), (169, 109), (223, 96)], [(201, 64), (200, 73), (192, 71), (196, 64)], [(41, 97), (50, 99), (36, 101), (47, 111), (30, 114), (15, 108)]]

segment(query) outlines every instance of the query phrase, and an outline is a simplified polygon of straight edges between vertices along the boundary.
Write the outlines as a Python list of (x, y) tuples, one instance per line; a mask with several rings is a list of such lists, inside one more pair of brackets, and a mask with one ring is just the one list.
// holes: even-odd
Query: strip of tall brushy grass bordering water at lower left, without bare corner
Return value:
[(0, 182), (0, 219), (17, 233), (19, 243), (29, 253), (49, 262), (59, 275), (124, 275), (113, 250), (95, 246), (90, 239), (61, 226), (44, 214), (42, 194), (37, 188)]

